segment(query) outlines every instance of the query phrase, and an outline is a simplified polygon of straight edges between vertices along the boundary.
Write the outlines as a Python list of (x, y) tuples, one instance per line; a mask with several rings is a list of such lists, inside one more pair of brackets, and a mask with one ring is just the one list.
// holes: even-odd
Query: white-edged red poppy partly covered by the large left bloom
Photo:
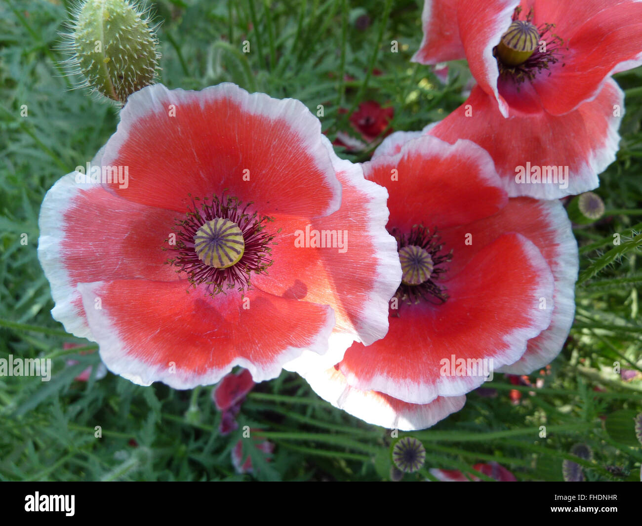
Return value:
[(388, 334), (352, 344), (336, 365), (332, 354), (304, 353), (288, 367), (336, 407), (412, 430), (482, 385), (483, 374), (456, 370), (460, 360), (527, 374), (557, 356), (575, 311), (578, 254), (562, 204), (508, 199), (479, 146), (422, 136), (399, 147), (363, 167), (390, 193), (403, 269)]

